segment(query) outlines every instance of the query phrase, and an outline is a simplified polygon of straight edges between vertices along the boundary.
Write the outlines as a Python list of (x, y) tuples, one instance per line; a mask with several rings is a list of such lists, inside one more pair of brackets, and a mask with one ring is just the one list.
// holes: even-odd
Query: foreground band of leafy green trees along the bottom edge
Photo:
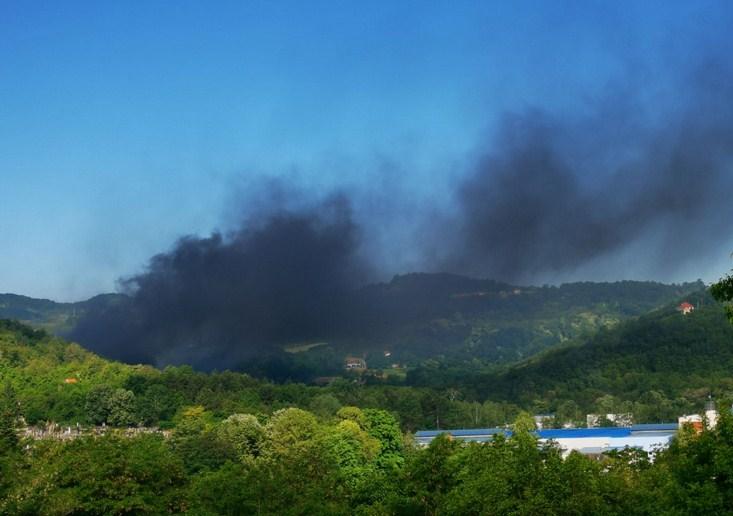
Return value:
[[(10, 395), (12, 396), (12, 395)], [(3, 398), (6, 402), (9, 395)], [(328, 421), (296, 408), (217, 422), (203, 407), (169, 438), (114, 433), (20, 442), (0, 406), (0, 514), (723, 514), (733, 507), (733, 421), (683, 431), (654, 461), (540, 445), (520, 415), (510, 438), (415, 447), (380, 410)]]

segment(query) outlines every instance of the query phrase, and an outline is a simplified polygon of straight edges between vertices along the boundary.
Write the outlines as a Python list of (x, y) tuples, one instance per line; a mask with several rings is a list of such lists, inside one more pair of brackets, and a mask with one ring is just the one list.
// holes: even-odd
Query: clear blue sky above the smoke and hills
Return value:
[(573, 110), (619, 76), (663, 77), (670, 59), (726, 30), (726, 11), (3, 2), (0, 291), (110, 291), (178, 236), (226, 229), (237, 192), (262, 176), (364, 185), (395, 161), (411, 196), (440, 204), (501, 113)]

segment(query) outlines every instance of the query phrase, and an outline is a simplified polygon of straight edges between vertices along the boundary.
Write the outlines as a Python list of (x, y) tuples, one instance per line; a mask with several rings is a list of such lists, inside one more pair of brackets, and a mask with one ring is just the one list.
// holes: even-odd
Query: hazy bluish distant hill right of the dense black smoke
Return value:
[(363, 328), (344, 339), (440, 356), (506, 363), (610, 327), (704, 288), (702, 282), (514, 286), (450, 274), (408, 274), (359, 293)]

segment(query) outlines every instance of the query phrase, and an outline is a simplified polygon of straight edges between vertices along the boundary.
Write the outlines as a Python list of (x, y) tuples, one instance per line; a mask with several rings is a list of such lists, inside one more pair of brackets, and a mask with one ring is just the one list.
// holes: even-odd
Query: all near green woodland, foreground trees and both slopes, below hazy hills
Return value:
[[(699, 410), (711, 390), (731, 397), (733, 327), (705, 294), (690, 300), (691, 314), (659, 310), (498, 372), (427, 364), (412, 385), (131, 366), (0, 321), (0, 514), (725, 513), (727, 412), (654, 461), (634, 450), (563, 459), (520, 414), (660, 421)], [(440, 437), (419, 449), (409, 435), (515, 419), (510, 438), (487, 444)], [(45, 421), (170, 430), (22, 437)]]

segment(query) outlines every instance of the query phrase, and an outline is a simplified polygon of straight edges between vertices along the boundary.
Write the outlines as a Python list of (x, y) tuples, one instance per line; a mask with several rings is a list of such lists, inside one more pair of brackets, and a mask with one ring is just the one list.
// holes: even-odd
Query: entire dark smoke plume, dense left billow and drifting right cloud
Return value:
[[(440, 220), (416, 210), (431, 237), (394, 245), (422, 252), (424, 270), (502, 281), (572, 273), (642, 239), (638, 263), (664, 270), (692, 250), (718, 252), (733, 220), (733, 74), (715, 62), (697, 72), (667, 113), (649, 116), (622, 91), (582, 115), (504, 115), (450, 193), (455, 209)], [(266, 196), (235, 231), (185, 237), (153, 257), (122, 282), (129, 302), (88, 314), (73, 337), (128, 361), (231, 367), (357, 327), (364, 310), (378, 318), (354, 292), (379, 254), (364, 235), (392, 221), (355, 212), (359, 196)], [(396, 272), (406, 271), (377, 271)]]

